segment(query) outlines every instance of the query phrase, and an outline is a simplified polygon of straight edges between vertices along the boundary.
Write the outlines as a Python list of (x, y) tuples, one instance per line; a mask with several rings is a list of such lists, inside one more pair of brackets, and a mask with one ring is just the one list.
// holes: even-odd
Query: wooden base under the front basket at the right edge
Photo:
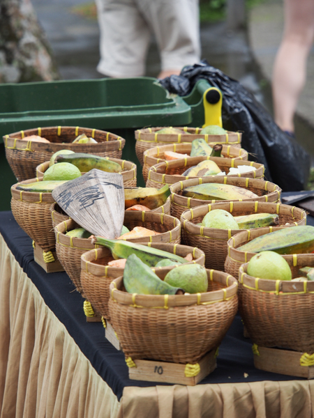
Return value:
[(298, 378), (314, 378), (314, 366), (301, 366), (300, 364), (301, 355), (304, 353), (261, 346), (258, 346), (258, 352), (260, 355), (254, 354), (256, 369)]

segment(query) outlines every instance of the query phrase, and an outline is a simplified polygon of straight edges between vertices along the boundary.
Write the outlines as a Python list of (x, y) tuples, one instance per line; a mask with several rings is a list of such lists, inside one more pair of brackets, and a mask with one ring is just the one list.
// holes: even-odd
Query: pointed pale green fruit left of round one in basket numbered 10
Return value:
[[(159, 279), (148, 265), (132, 254), (126, 260), (124, 268), (124, 287), (128, 293), (139, 295), (175, 295), (184, 293), (181, 288), (173, 287)], [(179, 292), (178, 292), (179, 291)]]

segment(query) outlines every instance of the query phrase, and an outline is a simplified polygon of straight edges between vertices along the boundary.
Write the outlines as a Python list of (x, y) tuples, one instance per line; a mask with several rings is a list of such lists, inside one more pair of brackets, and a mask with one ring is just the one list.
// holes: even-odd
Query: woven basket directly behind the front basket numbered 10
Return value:
[[(204, 252), (195, 247), (177, 244), (160, 244), (156, 242), (143, 243), (142, 245), (162, 249), (163, 251), (168, 251), (171, 254), (177, 254), (177, 256), (181, 257), (193, 254), (193, 261), (190, 263), (204, 265)], [(108, 309), (110, 283), (112, 280), (124, 274), (124, 268), (114, 268), (107, 265), (112, 260), (111, 251), (105, 247), (88, 251), (81, 256), (81, 284), (84, 295), (93, 307), (107, 320), (110, 320)], [(174, 266), (158, 268), (158, 271), (169, 272), (172, 268)]]

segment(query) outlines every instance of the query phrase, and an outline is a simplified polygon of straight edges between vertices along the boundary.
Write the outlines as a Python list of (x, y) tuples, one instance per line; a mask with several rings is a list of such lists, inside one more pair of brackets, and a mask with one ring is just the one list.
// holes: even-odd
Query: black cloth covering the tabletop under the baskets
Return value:
[[(87, 323), (83, 311), (84, 300), (80, 293), (75, 291), (68, 274), (66, 272), (48, 274), (35, 263), (31, 238), (15, 222), (12, 212), (0, 212), (0, 233), (24, 272), (38, 288), (47, 306), (65, 325), (82, 353), (118, 399), (121, 398), (126, 386), (154, 386), (152, 382), (128, 378), (128, 366), (124, 354), (105, 339), (102, 323)], [(244, 378), (244, 373), (248, 373), (247, 378)], [(252, 343), (250, 339), (244, 338), (243, 324), (240, 316), (237, 315), (219, 347), (217, 369), (204, 378), (200, 385), (296, 379), (303, 380), (255, 369)], [(158, 382), (156, 385), (167, 384)]]

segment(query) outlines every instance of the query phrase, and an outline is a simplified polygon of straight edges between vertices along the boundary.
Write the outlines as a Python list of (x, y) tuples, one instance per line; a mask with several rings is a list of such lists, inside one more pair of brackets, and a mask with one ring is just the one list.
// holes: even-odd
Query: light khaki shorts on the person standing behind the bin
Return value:
[(198, 0), (96, 0), (100, 27), (97, 70), (110, 77), (140, 77), (151, 33), (162, 70), (200, 61)]

